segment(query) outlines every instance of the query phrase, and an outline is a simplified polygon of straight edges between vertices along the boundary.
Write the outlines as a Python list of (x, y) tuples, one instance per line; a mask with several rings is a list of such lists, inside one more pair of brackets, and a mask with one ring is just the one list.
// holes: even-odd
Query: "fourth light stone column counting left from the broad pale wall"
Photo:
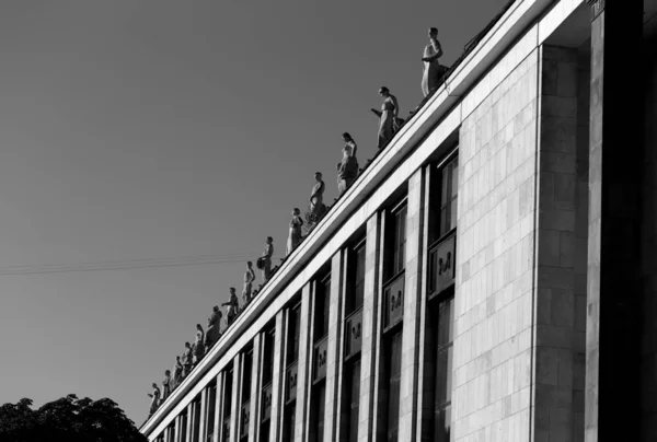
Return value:
[(299, 324), (299, 369), (297, 374), (297, 416), (295, 441), (306, 441), (310, 414), (310, 374), (312, 368), (312, 282), (301, 291), (301, 312)]

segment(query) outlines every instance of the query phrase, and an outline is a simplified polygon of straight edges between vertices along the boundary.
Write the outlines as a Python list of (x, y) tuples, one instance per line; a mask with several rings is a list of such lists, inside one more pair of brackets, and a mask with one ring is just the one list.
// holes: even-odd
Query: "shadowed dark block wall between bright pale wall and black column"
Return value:
[(587, 210), (587, 201), (577, 198), (578, 71), (576, 49), (541, 47), (540, 214), (532, 374), (535, 440), (584, 440), (584, 429), (575, 430), (575, 414), (584, 412), (583, 402), (575, 397), (575, 380), (578, 375), (584, 379), (584, 365), (575, 367), (575, 361), (584, 357), (584, 334), (577, 330), (575, 321), (577, 307), (583, 306), (577, 304), (575, 294), (575, 251), (586, 244), (586, 236), (579, 242), (576, 239), (576, 220)]

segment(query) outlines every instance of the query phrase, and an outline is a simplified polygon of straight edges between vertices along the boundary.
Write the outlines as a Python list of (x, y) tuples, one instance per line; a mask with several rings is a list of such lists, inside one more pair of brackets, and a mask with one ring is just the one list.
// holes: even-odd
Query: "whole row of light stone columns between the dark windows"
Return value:
[[(428, 178), (429, 170), (420, 168), (408, 179), (407, 218), (406, 218), (406, 249), (405, 249), (405, 294), (404, 294), (404, 334), (402, 344), (402, 387), (400, 404), (400, 433), (399, 440), (416, 440), (418, 416), (418, 385), (419, 358), (422, 356), (422, 342), (418, 339), (426, 321), (426, 264), (424, 263), (426, 247), (426, 222), (425, 217), (428, 206)], [(383, 362), (381, 361), (381, 335), (382, 335), (382, 249), (385, 212), (373, 214), (366, 225), (366, 258), (365, 258), (365, 299), (362, 306), (362, 334), (361, 334), (361, 370), (360, 370), (360, 403), (358, 418), (358, 441), (373, 442), (377, 433), (382, 431), (382, 420), (385, 410), (381, 410), (378, 404), (379, 386), (382, 382), (381, 375)], [(343, 391), (344, 368), (344, 321), (345, 305), (344, 293), (346, 290), (346, 251), (337, 252), (331, 259), (331, 294), (328, 307), (328, 337), (327, 337), (327, 368), (326, 368), (326, 402), (324, 414), (324, 441), (344, 440), (341, 434), (341, 392)], [(295, 441), (308, 441), (310, 437), (310, 399), (312, 387), (312, 358), (314, 349), (313, 325), (315, 318), (314, 298), (316, 292), (314, 281), (307, 283), (301, 290), (300, 323), (299, 326), (299, 360), (297, 375), (297, 407), (296, 407), (296, 431)], [(265, 440), (278, 441), (281, 438), (284, 412), (285, 412), (285, 362), (287, 359), (285, 345), (288, 338), (289, 309), (284, 309), (276, 314), (275, 339), (273, 349), (273, 385), (272, 385), (272, 417), (269, 424), (269, 437), (261, 438), (261, 410), (262, 410), (262, 374), (264, 354), (264, 332), (256, 335), (253, 341), (253, 363), (249, 373), (251, 382), (251, 407), (249, 420), (249, 442), (261, 442)], [(187, 424), (184, 428), (181, 415), (174, 420), (174, 426), (168, 429), (165, 438), (172, 442), (200, 442), (208, 441), (208, 421), (214, 419), (212, 441), (227, 442), (223, 439), (223, 406), (230, 400), (230, 441), (240, 440), (241, 426), (241, 388), (243, 386), (244, 352), (240, 352), (232, 361), (232, 392), (231, 397), (226, 398), (227, 374), (226, 371), (218, 374), (216, 379), (217, 394), (215, 397), (215, 414), (207, 416), (210, 405), (209, 388), (203, 389), (200, 404), (192, 402), (186, 409)], [(226, 398), (226, 399), (224, 399)], [(194, 440), (194, 423), (197, 422), (197, 414), (200, 415), (198, 424), (198, 441)], [(171, 434), (171, 435), (170, 435)], [(183, 437), (184, 434), (184, 437)], [(165, 439), (169, 442), (169, 439)]]

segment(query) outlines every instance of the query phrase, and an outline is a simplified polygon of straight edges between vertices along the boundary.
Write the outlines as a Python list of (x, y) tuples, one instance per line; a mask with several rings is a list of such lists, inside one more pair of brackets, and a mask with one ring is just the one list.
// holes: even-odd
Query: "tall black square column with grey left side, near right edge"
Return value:
[[(588, 3), (591, 96), (586, 440), (621, 437), (638, 441), (642, 385), (637, 221), (643, 95), (632, 88), (632, 82), (637, 72), (639, 75), (643, 72), (644, 2), (588, 0)], [(600, 400), (602, 397), (604, 400)]]

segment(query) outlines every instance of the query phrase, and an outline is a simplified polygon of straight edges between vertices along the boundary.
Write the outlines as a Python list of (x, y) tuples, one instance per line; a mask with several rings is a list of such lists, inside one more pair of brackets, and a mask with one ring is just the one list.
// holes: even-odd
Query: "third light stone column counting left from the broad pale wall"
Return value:
[(328, 345), (326, 348), (326, 406), (324, 408), (324, 440), (338, 438), (337, 416), (339, 415), (338, 370), (342, 367), (342, 354), (338, 353), (343, 334), (342, 286), (343, 254), (337, 252), (331, 258), (331, 294), (328, 298)]

